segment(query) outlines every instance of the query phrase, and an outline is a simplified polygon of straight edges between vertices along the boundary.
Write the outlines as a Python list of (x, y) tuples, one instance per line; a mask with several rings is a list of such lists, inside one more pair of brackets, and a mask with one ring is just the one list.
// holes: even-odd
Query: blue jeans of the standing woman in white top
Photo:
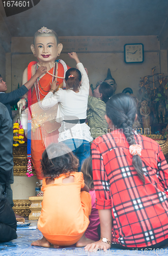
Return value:
[(79, 159), (78, 172), (80, 172), (82, 161), (91, 155), (90, 142), (80, 139), (64, 140), (62, 143), (66, 144), (73, 152), (73, 154)]

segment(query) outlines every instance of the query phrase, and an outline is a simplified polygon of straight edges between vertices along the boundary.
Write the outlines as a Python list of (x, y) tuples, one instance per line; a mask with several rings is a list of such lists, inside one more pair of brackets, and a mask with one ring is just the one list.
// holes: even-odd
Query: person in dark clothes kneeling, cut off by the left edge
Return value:
[[(12, 122), (5, 105), (0, 103), (0, 242), (17, 238), (16, 218), (10, 205), (12, 198), (6, 198), (7, 187), (13, 173)], [(12, 191), (12, 190), (11, 190)], [(12, 196), (10, 194), (10, 196)], [(13, 202), (13, 201), (12, 201)]]

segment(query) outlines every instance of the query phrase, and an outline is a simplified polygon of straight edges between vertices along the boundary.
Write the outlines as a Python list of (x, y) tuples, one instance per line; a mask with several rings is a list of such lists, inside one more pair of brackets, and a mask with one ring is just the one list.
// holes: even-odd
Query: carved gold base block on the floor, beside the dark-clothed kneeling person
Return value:
[(15, 214), (18, 214), (22, 217), (28, 217), (30, 215), (31, 210), (29, 209), (31, 205), (30, 200), (13, 200), (14, 206), (13, 210)]

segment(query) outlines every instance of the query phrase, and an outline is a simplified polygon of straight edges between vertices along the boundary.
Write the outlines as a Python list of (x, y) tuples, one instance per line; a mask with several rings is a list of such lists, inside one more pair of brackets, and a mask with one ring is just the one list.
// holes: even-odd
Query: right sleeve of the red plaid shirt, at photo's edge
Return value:
[(158, 172), (157, 176), (160, 185), (163, 187), (165, 194), (168, 196), (168, 165), (164, 158), (163, 152), (159, 146), (159, 153), (157, 155), (157, 166)]

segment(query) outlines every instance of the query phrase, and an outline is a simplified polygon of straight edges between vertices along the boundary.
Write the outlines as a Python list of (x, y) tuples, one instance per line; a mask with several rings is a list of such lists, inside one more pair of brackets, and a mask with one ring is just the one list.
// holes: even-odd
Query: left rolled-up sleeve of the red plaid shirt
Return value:
[(92, 143), (92, 168), (96, 193), (96, 208), (111, 209), (110, 185), (105, 172), (103, 157), (96, 142)]

